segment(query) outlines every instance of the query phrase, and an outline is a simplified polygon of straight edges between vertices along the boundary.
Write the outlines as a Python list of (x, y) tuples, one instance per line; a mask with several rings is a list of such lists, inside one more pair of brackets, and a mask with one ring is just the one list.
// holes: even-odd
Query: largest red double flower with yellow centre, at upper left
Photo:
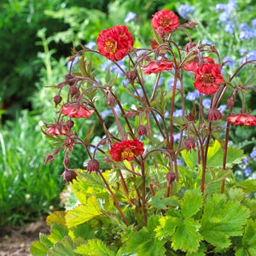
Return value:
[(127, 26), (113, 26), (102, 30), (96, 44), (99, 52), (110, 61), (122, 60), (133, 45), (133, 37)]

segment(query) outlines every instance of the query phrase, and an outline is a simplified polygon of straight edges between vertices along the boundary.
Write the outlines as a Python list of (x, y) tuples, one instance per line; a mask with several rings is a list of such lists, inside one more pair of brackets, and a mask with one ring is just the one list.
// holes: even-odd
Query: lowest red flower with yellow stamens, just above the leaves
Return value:
[(109, 151), (113, 160), (117, 162), (123, 160), (131, 161), (135, 156), (143, 154), (143, 152), (143, 143), (139, 142), (137, 139), (113, 143), (113, 147), (111, 147)]

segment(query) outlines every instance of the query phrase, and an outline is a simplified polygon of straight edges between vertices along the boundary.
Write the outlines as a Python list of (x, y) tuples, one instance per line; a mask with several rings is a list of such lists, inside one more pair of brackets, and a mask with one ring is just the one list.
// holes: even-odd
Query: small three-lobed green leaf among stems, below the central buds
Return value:
[(160, 208), (160, 209), (166, 209), (167, 206), (178, 205), (177, 197), (172, 196), (172, 197), (162, 198), (164, 194), (165, 194), (164, 189), (158, 191), (154, 195), (154, 197), (150, 201), (148, 201), (149, 205), (152, 207)]

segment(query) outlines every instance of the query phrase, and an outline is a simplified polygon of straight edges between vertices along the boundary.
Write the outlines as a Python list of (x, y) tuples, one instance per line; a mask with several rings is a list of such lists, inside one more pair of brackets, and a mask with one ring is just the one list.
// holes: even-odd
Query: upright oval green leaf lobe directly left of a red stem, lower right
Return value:
[(195, 215), (202, 207), (202, 196), (199, 188), (187, 190), (183, 201), (181, 201), (182, 215), (184, 218), (190, 218)]

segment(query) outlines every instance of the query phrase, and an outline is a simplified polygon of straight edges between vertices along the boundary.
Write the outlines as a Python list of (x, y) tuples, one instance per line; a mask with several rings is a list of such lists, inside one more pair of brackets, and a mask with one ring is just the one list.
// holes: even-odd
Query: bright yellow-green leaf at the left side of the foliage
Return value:
[(67, 212), (66, 221), (69, 228), (75, 227), (79, 224), (96, 218), (102, 215), (101, 208), (96, 201), (96, 196), (90, 196), (86, 205), (79, 205)]

